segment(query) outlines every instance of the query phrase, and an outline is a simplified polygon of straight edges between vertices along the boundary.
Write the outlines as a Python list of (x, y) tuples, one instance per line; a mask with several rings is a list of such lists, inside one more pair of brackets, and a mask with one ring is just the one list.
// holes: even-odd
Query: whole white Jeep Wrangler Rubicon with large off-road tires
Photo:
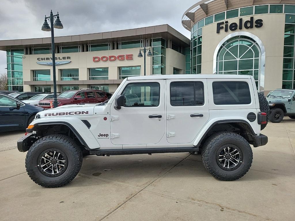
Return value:
[(201, 152), (214, 177), (236, 180), (250, 169), (269, 112), (247, 75), (128, 77), (100, 104), (65, 105), (36, 115), (17, 142), (43, 187), (73, 180), (83, 156)]

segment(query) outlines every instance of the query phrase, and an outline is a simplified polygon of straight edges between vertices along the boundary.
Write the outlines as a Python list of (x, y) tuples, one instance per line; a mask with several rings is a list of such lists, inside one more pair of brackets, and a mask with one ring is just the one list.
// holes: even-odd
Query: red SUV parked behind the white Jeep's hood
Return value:
[[(101, 103), (107, 99), (109, 98), (103, 90), (91, 89), (67, 90), (57, 96), (58, 107), (68, 104)], [(49, 109), (50, 101), (53, 102), (53, 99), (40, 100), (38, 106)]]

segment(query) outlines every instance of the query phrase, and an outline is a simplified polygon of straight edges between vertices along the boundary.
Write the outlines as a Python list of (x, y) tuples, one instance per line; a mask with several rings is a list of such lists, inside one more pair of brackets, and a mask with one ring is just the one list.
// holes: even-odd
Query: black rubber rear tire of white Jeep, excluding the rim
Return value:
[[(242, 152), (242, 162), (236, 169), (227, 171), (217, 164), (217, 152), (224, 145), (235, 145)], [(243, 177), (250, 169), (253, 153), (242, 136), (232, 132), (218, 132), (210, 136), (202, 148), (202, 161), (209, 173), (220, 180), (232, 181)]]

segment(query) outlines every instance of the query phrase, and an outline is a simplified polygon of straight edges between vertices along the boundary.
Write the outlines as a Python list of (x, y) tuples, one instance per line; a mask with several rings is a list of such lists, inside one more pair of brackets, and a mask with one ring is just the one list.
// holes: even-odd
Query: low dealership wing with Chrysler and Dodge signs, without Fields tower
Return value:
[[(145, 71), (138, 57), (144, 46)], [(7, 52), (9, 90), (53, 92), (51, 38), (4, 40), (0, 50)], [(128, 76), (189, 74), (190, 40), (167, 24), (55, 37), (55, 65), (58, 92), (113, 93)]]

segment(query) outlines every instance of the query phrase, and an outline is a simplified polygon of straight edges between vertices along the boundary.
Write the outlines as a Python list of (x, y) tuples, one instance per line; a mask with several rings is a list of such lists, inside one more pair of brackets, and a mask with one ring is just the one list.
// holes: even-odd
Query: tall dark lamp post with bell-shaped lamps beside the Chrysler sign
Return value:
[[(53, 24), (53, 21), (55, 19), (56, 19), (56, 21)], [(47, 23), (47, 20), (50, 21), (50, 26)], [(46, 17), (46, 15), (45, 15), (44, 24), (42, 25), (41, 30), (45, 31), (45, 32), (51, 31), (51, 51), (52, 51), (52, 68), (53, 68), (53, 107), (56, 108), (57, 107), (57, 98), (56, 98), (56, 73), (55, 73), (55, 45), (54, 45), (54, 30), (53, 30), (53, 28), (63, 29), (63, 24), (61, 24), (58, 12), (56, 15), (53, 15), (52, 10), (51, 10), (49, 17)]]

